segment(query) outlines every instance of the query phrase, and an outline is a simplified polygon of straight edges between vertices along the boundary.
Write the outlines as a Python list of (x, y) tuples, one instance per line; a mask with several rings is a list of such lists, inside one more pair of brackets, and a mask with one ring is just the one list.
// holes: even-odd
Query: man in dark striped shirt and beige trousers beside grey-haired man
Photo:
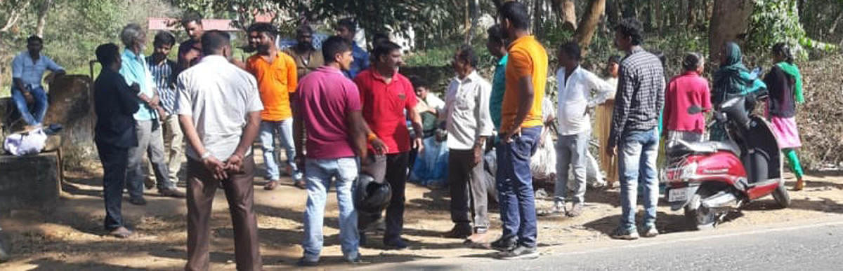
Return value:
[[(177, 174), (181, 168), (182, 158), (185, 157), (184, 134), (179, 125), (179, 115), (175, 114), (175, 61), (167, 59), (169, 51), (175, 45), (175, 35), (168, 31), (161, 31), (153, 40), (153, 55), (147, 56), (147, 66), (153, 75), (156, 94), (158, 94), (158, 111), (161, 125), (164, 127), (164, 152), (166, 152), (169, 182), (178, 183)], [(150, 167), (152, 168), (152, 167)], [(147, 189), (152, 189), (155, 174), (148, 174)]]

